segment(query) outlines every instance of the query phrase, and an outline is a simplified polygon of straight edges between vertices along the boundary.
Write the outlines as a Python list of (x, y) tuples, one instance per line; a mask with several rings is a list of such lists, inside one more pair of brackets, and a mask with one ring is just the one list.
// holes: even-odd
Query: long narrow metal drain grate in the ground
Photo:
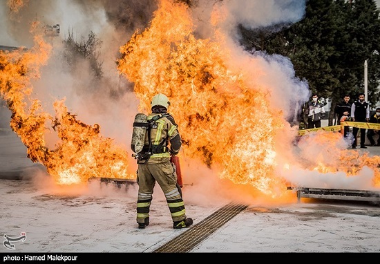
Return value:
[(187, 253), (247, 207), (248, 205), (229, 203), (165, 245), (158, 247), (153, 253)]

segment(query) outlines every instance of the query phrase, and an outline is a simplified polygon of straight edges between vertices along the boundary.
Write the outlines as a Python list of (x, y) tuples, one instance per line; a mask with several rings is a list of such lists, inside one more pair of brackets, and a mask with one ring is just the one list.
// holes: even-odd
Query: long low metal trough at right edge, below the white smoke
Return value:
[(331, 200), (354, 200), (380, 203), (380, 191), (349, 190), (349, 189), (321, 189), (287, 187), (288, 190), (297, 191), (297, 200), (301, 198), (318, 198)]

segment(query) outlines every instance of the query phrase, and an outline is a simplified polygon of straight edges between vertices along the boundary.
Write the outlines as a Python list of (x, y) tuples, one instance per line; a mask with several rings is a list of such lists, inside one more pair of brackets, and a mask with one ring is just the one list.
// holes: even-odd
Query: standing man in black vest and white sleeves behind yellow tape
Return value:
[[(370, 106), (368, 102), (364, 101), (364, 93), (359, 93), (359, 99), (356, 100), (351, 106), (351, 118), (353, 122), (368, 122), (370, 120)], [(360, 129), (360, 147), (361, 149), (367, 149), (365, 147), (365, 131), (367, 129)], [(352, 128), (352, 134), (354, 135), (354, 142), (352, 142), (352, 149), (357, 148), (357, 135), (359, 132), (358, 127)]]

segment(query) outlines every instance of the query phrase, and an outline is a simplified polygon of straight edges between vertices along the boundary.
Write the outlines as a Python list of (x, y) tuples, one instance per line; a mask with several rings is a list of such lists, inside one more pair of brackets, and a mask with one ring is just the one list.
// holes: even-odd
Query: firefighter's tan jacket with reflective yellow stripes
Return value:
[(177, 155), (182, 146), (178, 126), (169, 113), (151, 113), (147, 120), (152, 124), (149, 133), (145, 135), (143, 151), (151, 152), (149, 163), (166, 162), (170, 155)]

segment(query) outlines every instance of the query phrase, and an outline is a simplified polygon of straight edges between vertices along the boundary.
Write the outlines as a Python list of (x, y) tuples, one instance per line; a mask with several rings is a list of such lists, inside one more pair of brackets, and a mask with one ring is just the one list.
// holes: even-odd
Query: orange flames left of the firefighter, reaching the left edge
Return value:
[[(38, 23), (33, 28), (36, 34), (41, 31)], [(31, 50), (0, 51), (1, 96), (12, 112), (10, 126), (27, 147), (28, 158), (44, 164), (59, 184), (86, 182), (91, 177), (135, 178), (127, 172), (128, 153), (115, 146), (111, 138), (102, 137), (99, 125), (77, 120), (64, 100), (55, 102), (53, 118), (41, 109), (39, 101), (30, 98), (30, 79), (39, 77), (39, 68), (46, 64), (51, 48), (37, 34)], [(46, 127), (48, 121), (50, 129)], [(46, 147), (49, 130), (56, 131), (60, 139), (54, 150)]]

